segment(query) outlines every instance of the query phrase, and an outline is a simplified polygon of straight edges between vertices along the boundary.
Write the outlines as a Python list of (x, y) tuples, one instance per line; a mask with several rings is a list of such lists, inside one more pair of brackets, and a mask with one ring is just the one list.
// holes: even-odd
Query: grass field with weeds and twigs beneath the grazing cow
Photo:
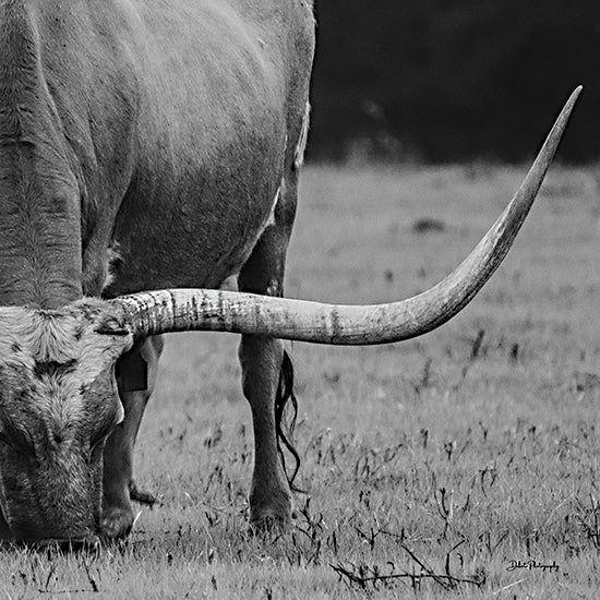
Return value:
[[(429, 287), (524, 175), (307, 169), (287, 295), (368, 303)], [(600, 169), (553, 167), (454, 321), (391, 346), (292, 344), (305, 493), (287, 537), (248, 532), (237, 337), (171, 337), (137, 452), (161, 505), (97, 557), (0, 553), (0, 597), (597, 598), (599, 255)]]

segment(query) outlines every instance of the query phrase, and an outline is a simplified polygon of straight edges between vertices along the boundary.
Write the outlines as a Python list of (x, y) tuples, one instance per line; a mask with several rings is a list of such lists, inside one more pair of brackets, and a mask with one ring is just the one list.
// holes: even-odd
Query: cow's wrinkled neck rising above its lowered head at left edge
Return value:
[(0, 305), (82, 296), (81, 206), (43, 74), (35, 19), (0, 4)]

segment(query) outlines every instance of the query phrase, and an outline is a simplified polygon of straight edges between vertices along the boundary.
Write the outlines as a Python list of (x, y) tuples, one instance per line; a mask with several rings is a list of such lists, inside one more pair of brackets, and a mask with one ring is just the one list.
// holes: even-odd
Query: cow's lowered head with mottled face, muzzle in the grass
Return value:
[(0, 308), (0, 538), (95, 543), (103, 451), (123, 418), (115, 364), (132, 344), (101, 300)]

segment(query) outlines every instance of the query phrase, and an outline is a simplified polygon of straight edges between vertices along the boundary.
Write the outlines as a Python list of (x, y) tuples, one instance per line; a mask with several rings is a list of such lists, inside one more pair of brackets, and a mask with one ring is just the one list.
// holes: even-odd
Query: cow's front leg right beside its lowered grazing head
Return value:
[(163, 338), (146, 339), (121, 359), (119, 396), (124, 419), (107, 441), (104, 452), (104, 495), (101, 530), (109, 538), (127, 536), (133, 526), (131, 501), (154, 504), (148, 492), (137, 489), (133, 479), (133, 452), (142, 417), (154, 389)]

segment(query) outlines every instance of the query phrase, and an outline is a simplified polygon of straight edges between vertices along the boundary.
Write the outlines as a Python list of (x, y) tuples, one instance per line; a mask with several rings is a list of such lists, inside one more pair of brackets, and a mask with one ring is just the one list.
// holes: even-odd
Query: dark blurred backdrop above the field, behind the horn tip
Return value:
[(600, 0), (315, 0), (310, 159), (600, 157)]

